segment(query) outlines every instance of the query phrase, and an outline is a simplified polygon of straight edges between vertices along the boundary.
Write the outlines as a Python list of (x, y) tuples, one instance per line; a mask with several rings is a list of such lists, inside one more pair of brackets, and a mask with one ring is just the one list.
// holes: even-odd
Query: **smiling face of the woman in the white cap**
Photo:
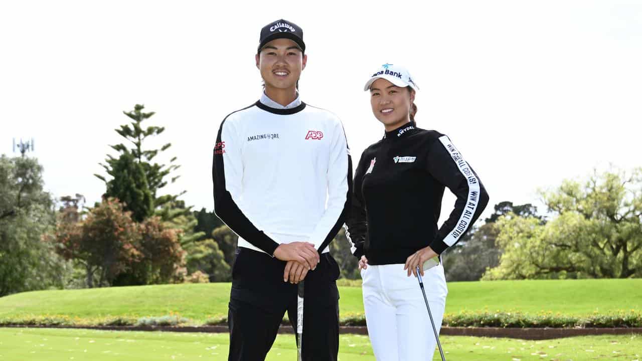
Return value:
[(372, 113), (383, 123), (386, 130), (393, 130), (410, 121), (410, 105), (415, 100), (415, 92), (397, 87), (383, 78), (370, 85), (370, 105)]

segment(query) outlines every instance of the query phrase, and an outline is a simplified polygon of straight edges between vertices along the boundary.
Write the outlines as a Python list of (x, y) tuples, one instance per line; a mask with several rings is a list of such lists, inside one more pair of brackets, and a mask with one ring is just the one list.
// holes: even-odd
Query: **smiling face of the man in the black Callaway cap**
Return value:
[(256, 67), (266, 87), (290, 89), (297, 86), (308, 57), (290, 39), (275, 39), (256, 55)]

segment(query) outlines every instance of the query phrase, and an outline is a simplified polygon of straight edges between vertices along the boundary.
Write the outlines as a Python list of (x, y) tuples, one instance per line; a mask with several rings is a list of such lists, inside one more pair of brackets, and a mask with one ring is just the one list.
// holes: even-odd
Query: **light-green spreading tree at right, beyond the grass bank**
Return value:
[(485, 279), (642, 276), (641, 169), (594, 172), (541, 195), (557, 218), (500, 218), (503, 255)]

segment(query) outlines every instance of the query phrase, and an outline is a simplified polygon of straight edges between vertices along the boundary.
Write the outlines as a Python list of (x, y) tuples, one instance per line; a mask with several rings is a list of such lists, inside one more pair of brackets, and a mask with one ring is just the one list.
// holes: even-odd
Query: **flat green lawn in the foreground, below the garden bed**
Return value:
[[(0, 328), (0, 360), (227, 360), (228, 335)], [(372, 360), (367, 336), (341, 335), (339, 360)], [(642, 336), (545, 341), (442, 337), (447, 360), (639, 360)], [(293, 335), (279, 335), (267, 360), (295, 360)], [(433, 360), (440, 360), (435, 353)]]

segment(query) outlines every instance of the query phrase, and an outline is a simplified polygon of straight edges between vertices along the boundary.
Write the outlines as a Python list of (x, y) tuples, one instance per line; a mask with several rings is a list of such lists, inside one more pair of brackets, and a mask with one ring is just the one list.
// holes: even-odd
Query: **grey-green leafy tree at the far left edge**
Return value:
[(0, 156), (0, 297), (62, 288), (71, 272), (43, 235), (53, 228), (53, 199), (35, 158)]

